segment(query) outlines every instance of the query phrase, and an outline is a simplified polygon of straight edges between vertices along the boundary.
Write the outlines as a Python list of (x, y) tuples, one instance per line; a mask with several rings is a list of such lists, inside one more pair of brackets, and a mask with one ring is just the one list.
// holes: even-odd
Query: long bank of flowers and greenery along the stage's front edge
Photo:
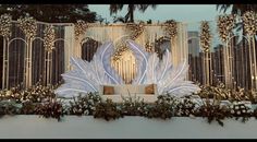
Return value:
[[(216, 120), (220, 126), (223, 126), (222, 120), (228, 118), (235, 118), (236, 120), (242, 118), (243, 122), (250, 117), (257, 118), (257, 108), (252, 107), (253, 102), (240, 97), (223, 99), (246, 92), (243, 90), (228, 91), (222, 84), (201, 86), (198, 94), (182, 98), (176, 98), (170, 94), (159, 95), (155, 103), (145, 103), (144, 99), (136, 96), (123, 97), (122, 103), (113, 103), (111, 99), (101, 99), (98, 93), (88, 93), (64, 99), (57, 98), (53, 93), (54, 88), (57, 88), (57, 85), (44, 86), (37, 83), (27, 90), (16, 86), (10, 91), (1, 91), (0, 116), (39, 115), (45, 118), (56, 118), (59, 121), (65, 115), (94, 116), (94, 118), (106, 120), (124, 116), (160, 119), (204, 117), (207, 118), (209, 123)], [(234, 93), (237, 95), (234, 95)], [(254, 98), (256, 99), (256, 97)]]

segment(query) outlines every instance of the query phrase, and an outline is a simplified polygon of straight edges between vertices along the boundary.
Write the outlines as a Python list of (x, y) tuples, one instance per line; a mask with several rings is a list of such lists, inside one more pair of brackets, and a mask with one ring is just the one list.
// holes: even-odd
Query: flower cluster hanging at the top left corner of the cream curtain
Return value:
[(74, 24), (74, 31), (75, 31), (75, 39), (77, 40), (79, 35), (82, 35), (83, 33), (86, 32), (86, 29), (89, 27), (89, 25), (83, 21), (83, 20), (78, 20), (75, 24)]

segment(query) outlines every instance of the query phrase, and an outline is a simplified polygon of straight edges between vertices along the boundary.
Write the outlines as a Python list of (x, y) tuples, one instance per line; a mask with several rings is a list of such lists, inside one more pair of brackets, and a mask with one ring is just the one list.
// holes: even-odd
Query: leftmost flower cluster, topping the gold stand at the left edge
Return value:
[(2, 14), (0, 16), (0, 35), (3, 37), (11, 37), (12, 16), (10, 14)]

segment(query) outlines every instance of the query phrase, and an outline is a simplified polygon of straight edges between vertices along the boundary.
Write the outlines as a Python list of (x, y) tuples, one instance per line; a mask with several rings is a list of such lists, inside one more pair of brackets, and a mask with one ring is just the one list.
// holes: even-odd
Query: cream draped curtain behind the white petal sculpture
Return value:
[[(83, 38), (90, 37), (101, 44), (105, 42), (113, 42), (114, 45), (123, 39), (128, 38), (125, 24), (112, 24), (112, 25), (100, 25), (90, 24), (85, 34), (75, 40), (74, 26), (65, 28), (65, 39), (71, 43), (69, 48), (65, 47), (65, 69), (70, 66), (70, 57), (81, 57), (82, 55), (82, 40)], [(161, 25), (151, 24), (145, 25), (144, 32), (135, 39), (135, 42), (145, 48), (146, 43), (155, 43), (156, 39), (161, 36), (167, 36)], [(73, 46), (72, 46), (73, 45)], [(115, 47), (117, 48), (117, 47)], [(188, 46), (187, 46), (187, 29), (186, 25), (179, 23), (178, 36), (171, 39), (171, 56), (172, 63), (178, 66), (183, 60), (188, 60)], [(126, 83), (130, 83), (136, 75), (136, 62), (133, 54), (127, 50), (122, 54), (120, 60), (112, 61), (112, 67), (118, 71)]]

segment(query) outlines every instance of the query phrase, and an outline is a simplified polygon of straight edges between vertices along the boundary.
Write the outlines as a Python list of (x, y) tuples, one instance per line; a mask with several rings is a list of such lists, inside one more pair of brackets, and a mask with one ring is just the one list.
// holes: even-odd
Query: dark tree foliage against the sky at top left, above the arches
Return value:
[(90, 12), (87, 4), (1, 4), (0, 14), (3, 13), (10, 13), (13, 20), (28, 14), (37, 21), (49, 23), (96, 21), (96, 12)]

